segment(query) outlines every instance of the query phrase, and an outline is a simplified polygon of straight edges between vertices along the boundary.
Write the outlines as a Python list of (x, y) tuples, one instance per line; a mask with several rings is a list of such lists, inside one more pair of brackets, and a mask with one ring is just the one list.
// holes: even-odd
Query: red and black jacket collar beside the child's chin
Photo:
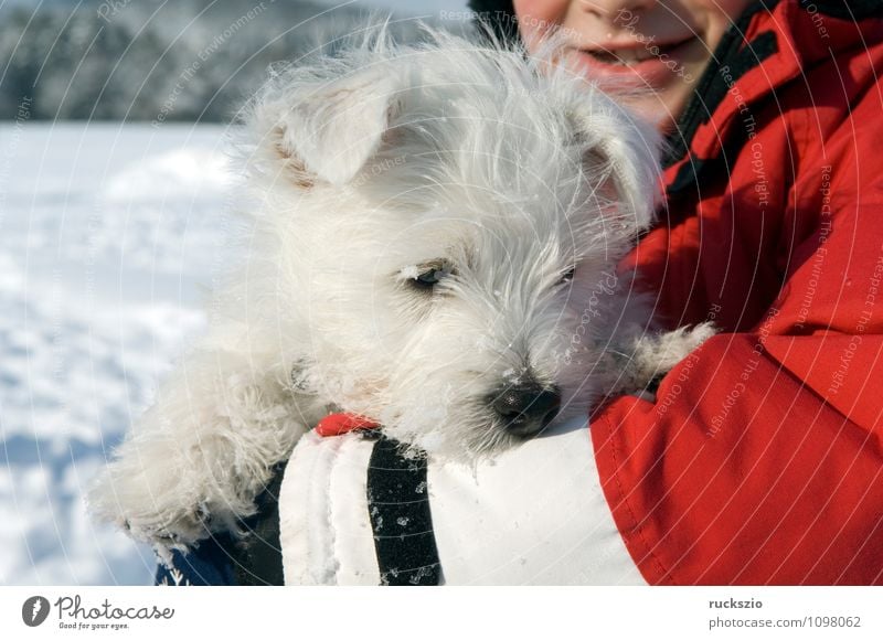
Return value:
[(864, 20), (879, 11), (879, 0), (754, 2), (722, 39), (668, 139), (669, 195), (694, 185), (727, 145), (753, 137), (754, 114), (776, 89), (844, 51), (881, 41), (883, 22)]

